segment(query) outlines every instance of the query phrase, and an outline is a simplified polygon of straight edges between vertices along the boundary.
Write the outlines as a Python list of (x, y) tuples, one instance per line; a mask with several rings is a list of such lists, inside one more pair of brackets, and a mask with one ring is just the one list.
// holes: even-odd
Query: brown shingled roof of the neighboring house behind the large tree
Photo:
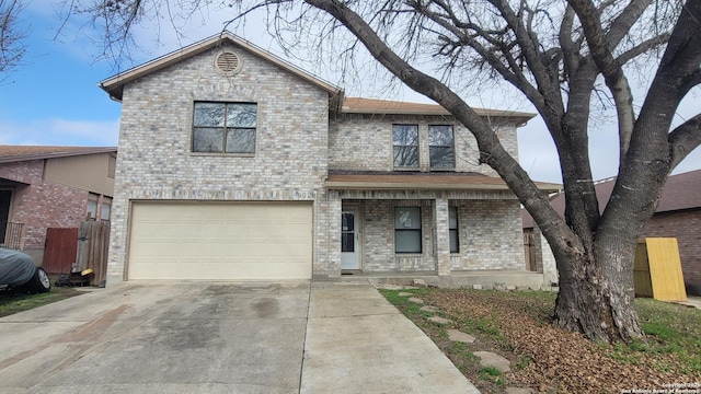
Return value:
[[(597, 183), (594, 188), (596, 198), (599, 201), (599, 211), (604, 212), (606, 204), (611, 197), (616, 177), (607, 178)], [(559, 194), (551, 200), (552, 207), (560, 216), (564, 217), (565, 195)], [(655, 209), (655, 213), (678, 211), (685, 209), (701, 208), (701, 170), (671, 175), (667, 178), (662, 190), (662, 197)], [(533, 227), (533, 218), (526, 209), (521, 210), (524, 228)]]

